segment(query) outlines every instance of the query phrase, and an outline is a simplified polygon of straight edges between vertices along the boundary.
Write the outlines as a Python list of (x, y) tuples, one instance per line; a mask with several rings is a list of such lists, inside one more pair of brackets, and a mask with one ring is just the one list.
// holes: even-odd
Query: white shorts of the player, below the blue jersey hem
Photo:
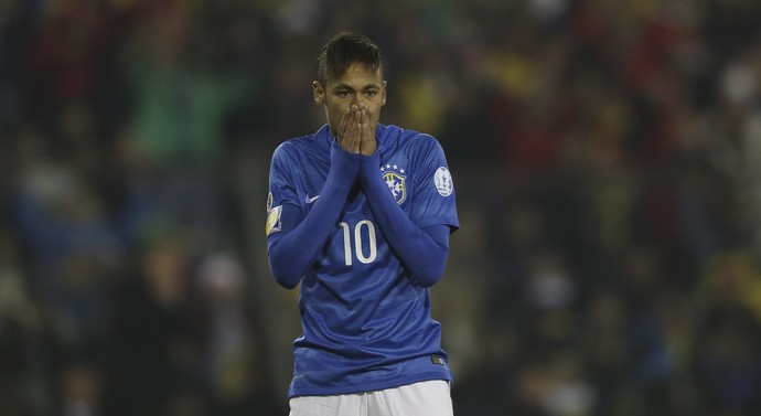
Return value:
[(300, 396), (289, 416), (452, 416), (449, 382), (432, 380), (377, 392)]

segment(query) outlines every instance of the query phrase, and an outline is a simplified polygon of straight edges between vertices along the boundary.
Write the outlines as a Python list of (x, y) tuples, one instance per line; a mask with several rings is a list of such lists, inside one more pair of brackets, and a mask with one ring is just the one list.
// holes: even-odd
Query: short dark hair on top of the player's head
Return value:
[(342, 31), (331, 38), (318, 55), (318, 77), (322, 84), (339, 79), (352, 64), (360, 63), (373, 71), (383, 70), (380, 49), (367, 36)]

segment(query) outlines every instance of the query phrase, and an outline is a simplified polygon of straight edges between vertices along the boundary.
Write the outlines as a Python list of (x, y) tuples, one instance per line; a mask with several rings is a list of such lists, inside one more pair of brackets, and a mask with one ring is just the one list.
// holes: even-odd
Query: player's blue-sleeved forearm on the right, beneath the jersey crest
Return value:
[(419, 228), (401, 210), (378, 174), (379, 156), (362, 158), (360, 182), (371, 210), (386, 241), (407, 267), (411, 278), (421, 287), (433, 286), (441, 279), (449, 256), (448, 225)]

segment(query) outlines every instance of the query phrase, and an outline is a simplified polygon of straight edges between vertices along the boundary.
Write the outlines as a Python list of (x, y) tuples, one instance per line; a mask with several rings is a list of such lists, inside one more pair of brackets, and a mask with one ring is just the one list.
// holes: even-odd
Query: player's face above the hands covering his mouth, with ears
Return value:
[(323, 105), (331, 131), (335, 135), (341, 117), (351, 105), (369, 109), (369, 124), (375, 126), (380, 119), (380, 107), (386, 104), (386, 82), (380, 70), (373, 71), (363, 64), (352, 64), (339, 78), (328, 81), (326, 85), (312, 83), (314, 102)]

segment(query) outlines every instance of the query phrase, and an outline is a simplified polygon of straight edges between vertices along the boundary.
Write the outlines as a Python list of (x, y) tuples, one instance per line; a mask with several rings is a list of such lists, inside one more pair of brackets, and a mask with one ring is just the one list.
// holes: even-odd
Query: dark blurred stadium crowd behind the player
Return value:
[(465, 415), (761, 414), (761, 2), (0, 2), (0, 414), (285, 415), (269, 157), (384, 49), (461, 230)]

